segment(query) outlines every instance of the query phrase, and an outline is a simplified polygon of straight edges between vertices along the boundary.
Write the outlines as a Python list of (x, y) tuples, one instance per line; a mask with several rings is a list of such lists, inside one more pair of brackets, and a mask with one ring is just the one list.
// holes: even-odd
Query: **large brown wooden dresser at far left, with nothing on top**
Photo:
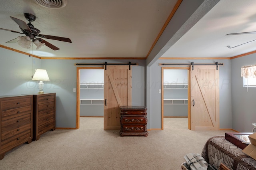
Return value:
[(0, 96), (0, 160), (6, 152), (32, 142), (33, 95)]

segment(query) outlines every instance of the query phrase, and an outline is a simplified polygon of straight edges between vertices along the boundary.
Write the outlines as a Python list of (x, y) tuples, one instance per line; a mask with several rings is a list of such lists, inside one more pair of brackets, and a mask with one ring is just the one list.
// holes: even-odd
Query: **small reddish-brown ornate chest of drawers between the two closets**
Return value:
[(120, 136), (148, 136), (147, 108), (145, 106), (120, 107)]

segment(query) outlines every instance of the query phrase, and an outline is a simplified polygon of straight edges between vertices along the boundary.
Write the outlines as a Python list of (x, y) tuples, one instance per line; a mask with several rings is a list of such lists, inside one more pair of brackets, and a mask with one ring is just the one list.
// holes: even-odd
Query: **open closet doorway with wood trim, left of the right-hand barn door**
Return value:
[(189, 118), (189, 69), (190, 67), (162, 67), (162, 129), (164, 118)]

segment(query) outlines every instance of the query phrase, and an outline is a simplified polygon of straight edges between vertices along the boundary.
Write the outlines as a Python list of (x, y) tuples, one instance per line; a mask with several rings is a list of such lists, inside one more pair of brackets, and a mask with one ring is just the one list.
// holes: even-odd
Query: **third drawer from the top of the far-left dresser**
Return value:
[(6, 121), (2, 121), (1, 132), (5, 133), (13, 129), (17, 129), (23, 125), (29, 124), (31, 125), (31, 114), (23, 115), (20, 117), (15, 117), (12, 119), (8, 119)]

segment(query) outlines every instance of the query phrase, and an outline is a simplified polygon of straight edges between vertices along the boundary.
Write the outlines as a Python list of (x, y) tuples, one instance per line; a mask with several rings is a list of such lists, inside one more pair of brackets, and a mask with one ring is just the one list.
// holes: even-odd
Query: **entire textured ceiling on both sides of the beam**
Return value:
[[(0, 30), (0, 45), (39, 57), (143, 59), (151, 52), (150, 60), (233, 57), (256, 50), (256, 41), (246, 43), (256, 40), (256, 34), (226, 36), (256, 31), (255, 0), (182, 0), (154, 45), (177, 1), (181, 0), (66, 0), (65, 7), (49, 9), (35, 0), (0, 0), (0, 28), (20, 32), (10, 16), (27, 23), (23, 13), (32, 13), (37, 17), (32, 24), (41, 34), (72, 40), (44, 39), (59, 47), (57, 51), (47, 46), (36, 50), (35, 45), (29, 50), (17, 43), (6, 43), (21, 34)], [(194, 4), (199, 6), (194, 9)], [(183, 20), (187, 15), (191, 16)], [(166, 41), (161, 42), (164, 38)], [(227, 47), (242, 43), (246, 44)]]

